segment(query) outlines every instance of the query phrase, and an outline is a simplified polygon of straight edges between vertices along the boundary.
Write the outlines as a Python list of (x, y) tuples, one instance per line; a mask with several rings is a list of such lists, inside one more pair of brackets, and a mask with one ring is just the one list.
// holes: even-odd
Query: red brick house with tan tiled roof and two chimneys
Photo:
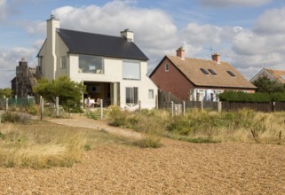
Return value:
[(215, 53), (212, 60), (185, 58), (181, 47), (177, 56), (165, 56), (150, 78), (162, 91), (181, 100), (218, 100), (224, 90), (242, 90), (253, 93), (256, 87), (247, 81), (229, 63), (220, 61)]

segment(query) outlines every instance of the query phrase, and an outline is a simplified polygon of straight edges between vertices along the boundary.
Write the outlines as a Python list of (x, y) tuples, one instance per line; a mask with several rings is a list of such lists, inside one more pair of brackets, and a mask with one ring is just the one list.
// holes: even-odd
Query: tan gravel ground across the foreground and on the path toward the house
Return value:
[[(106, 125), (57, 120), (52, 121), (91, 129)], [(0, 168), (0, 194), (285, 194), (283, 145), (170, 139), (162, 144), (159, 149), (97, 145), (73, 168)]]

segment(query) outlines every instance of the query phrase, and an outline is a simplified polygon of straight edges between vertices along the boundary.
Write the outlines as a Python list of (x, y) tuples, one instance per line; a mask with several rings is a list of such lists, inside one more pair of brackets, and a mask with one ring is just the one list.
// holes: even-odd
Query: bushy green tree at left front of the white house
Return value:
[(59, 97), (59, 105), (64, 107), (78, 107), (82, 100), (82, 94), (85, 92), (85, 86), (82, 82), (76, 83), (61, 76), (53, 81), (42, 79), (38, 82), (33, 91), (38, 96), (43, 96), (46, 101), (56, 102)]

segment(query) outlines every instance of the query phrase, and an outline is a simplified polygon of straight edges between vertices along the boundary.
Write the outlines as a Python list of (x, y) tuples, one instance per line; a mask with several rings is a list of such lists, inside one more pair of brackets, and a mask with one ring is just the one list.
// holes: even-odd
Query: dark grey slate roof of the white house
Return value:
[(58, 28), (57, 33), (69, 52), (113, 58), (148, 60), (139, 47), (124, 37), (99, 35)]

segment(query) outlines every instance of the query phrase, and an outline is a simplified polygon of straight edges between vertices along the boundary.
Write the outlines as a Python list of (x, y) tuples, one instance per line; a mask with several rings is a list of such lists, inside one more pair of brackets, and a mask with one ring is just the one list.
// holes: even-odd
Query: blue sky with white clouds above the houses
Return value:
[(248, 80), (264, 67), (285, 70), (285, 0), (0, 0), (0, 89), (11, 88), (21, 58), (37, 65), (51, 14), (61, 28), (134, 31), (149, 73), (180, 46), (186, 58), (218, 52)]

